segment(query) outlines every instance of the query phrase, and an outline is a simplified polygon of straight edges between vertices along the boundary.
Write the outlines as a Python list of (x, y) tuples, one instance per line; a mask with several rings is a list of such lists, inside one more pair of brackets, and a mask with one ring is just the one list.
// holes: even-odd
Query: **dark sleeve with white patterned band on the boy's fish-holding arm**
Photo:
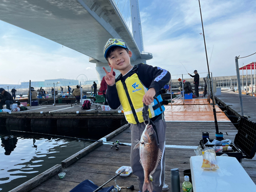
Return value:
[(141, 64), (139, 67), (139, 79), (148, 89), (154, 88), (160, 91), (170, 80), (170, 73), (159, 67)]

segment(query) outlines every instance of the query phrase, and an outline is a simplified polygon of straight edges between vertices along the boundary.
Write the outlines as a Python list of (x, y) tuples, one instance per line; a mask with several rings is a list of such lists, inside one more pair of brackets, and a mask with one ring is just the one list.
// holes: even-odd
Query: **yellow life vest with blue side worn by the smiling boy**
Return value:
[[(124, 115), (129, 123), (141, 123), (143, 122), (142, 109), (143, 109), (143, 96), (147, 92), (147, 88), (144, 87), (140, 81), (137, 73), (132, 73), (127, 77), (124, 82), (118, 80), (116, 82), (116, 89), (120, 103), (123, 107)], [(161, 95), (158, 96), (159, 102), (162, 101)], [(164, 106), (161, 106), (164, 111)], [(153, 118), (162, 112), (158, 106), (156, 99), (150, 105), (148, 105), (148, 114), (150, 118)]]

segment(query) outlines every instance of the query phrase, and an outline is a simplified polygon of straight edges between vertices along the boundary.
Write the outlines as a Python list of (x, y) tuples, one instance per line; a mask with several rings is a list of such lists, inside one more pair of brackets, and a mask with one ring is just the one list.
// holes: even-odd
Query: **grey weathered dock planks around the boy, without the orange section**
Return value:
[[(180, 171), (180, 184), (184, 181), (183, 170), (189, 169), (189, 158), (195, 156), (193, 147), (199, 145), (199, 140), (202, 137), (202, 132), (209, 132), (210, 138), (215, 136), (214, 122), (167, 122), (166, 131), (166, 145), (177, 145), (166, 147), (165, 158), (165, 183), (170, 185), (170, 169), (179, 168)], [(227, 133), (225, 138), (232, 139), (237, 133), (237, 129), (228, 122), (219, 122), (219, 129), (223, 133)], [(192, 133), (192, 134), (191, 134)], [(122, 133), (118, 134), (111, 140), (118, 139), (120, 142), (131, 142), (131, 131), (127, 128)], [(191, 148), (182, 148), (187, 146)], [(98, 186), (111, 179), (116, 170), (120, 166), (130, 166), (130, 146), (120, 146), (116, 151), (111, 145), (103, 144), (96, 148), (85, 157), (79, 159), (74, 164), (67, 168), (62, 168), (62, 171), (66, 172), (64, 179), (59, 179), (56, 174), (46, 182), (32, 189), (32, 192), (38, 191), (70, 191), (80, 182), (86, 179), (90, 179)], [(181, 147), (181, 148), (178, 148)], [(256, 183), (256, 166), (254, 160), (244, 160), (242, 166), (249, 174), (251, 179)], [(130, 175), (129, 177), (118, 177), (117, 184), (119, 186), (129, 187), (135, 186), (134, 191), (138, 191), (138, 184), (136, 177)], [(106, 186), (115, 185), (114, 181), (111, 181)], [(129, 189), (122, 189), (122, 191), (131, 191)], [(170, 191), (170, 189), (169, 189)], [(182, 191), (182, 190), (181, 190)]]

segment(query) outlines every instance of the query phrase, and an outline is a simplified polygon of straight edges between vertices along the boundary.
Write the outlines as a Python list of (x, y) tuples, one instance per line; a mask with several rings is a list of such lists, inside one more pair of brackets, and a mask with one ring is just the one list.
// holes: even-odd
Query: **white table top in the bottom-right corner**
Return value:
[(217, 156), (217, 170), (204, 170), (202, 163), (203, 156), (190, 158), (194, 192), (256, 191), (256, 185), (236, 158)]

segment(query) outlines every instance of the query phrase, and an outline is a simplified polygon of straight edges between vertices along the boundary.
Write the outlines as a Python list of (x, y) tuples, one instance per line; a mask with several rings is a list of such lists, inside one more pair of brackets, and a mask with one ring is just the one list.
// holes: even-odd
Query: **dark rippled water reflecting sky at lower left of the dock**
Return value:
[(65, 138), (0, 133), (0, 191), (9, 191), (87, 147)]

